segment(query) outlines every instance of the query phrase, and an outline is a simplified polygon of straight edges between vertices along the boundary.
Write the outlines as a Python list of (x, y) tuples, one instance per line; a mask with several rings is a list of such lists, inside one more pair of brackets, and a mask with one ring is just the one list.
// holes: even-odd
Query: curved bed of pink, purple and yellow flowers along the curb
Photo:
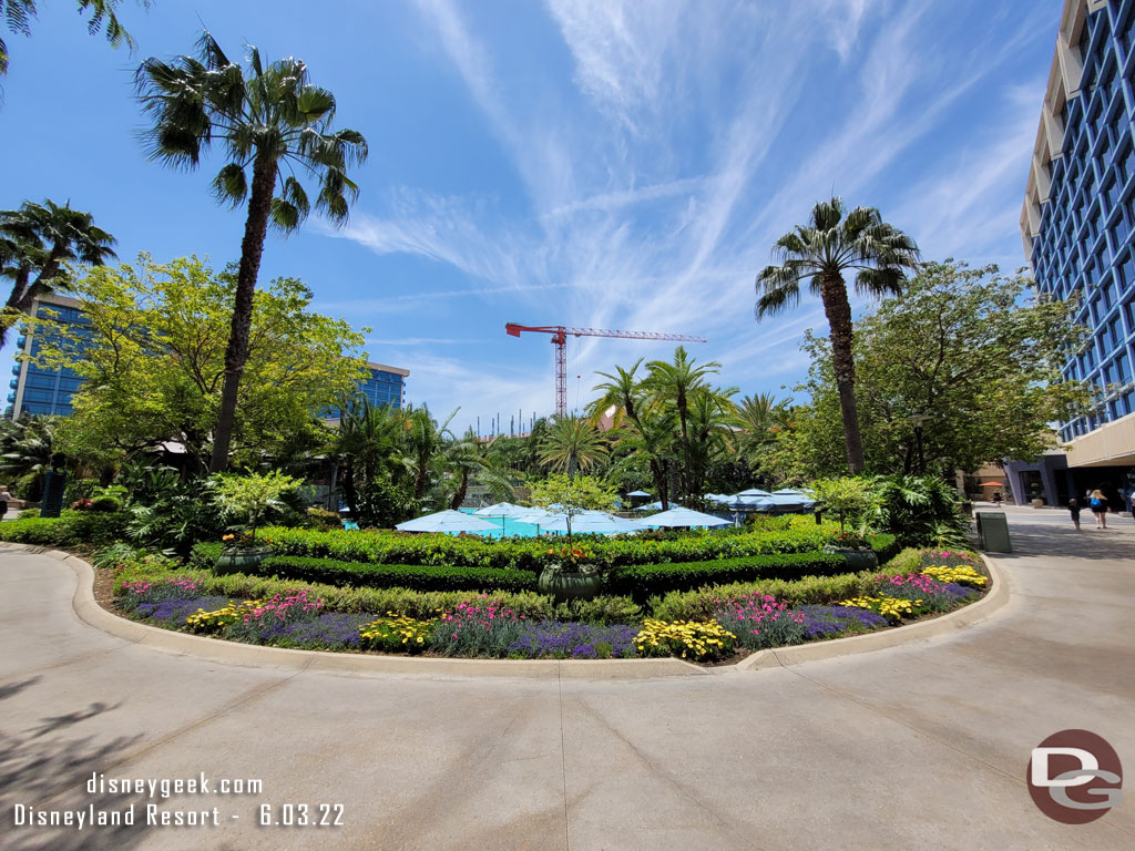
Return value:
[[(935, 575), (965, 579), (969, 584)], [(174, 572), (125, 579), (117, 593), (120, 608), (137, 620), (255, 644), (518, 659), (678, 656), (713, 663), (738, 650), (854, 635), (947, 612), (975, 599), (989, 583), (976, 559), (961, 559), (956, 566), (927, 565), (918, 573), (854, 575), (850, 579), (860, 592), (846, 599), (812, 593), (821, 580), (809, 578), (782, 583), (783, 598), (745, 585), (731, 587), (741, 589), (735, 593), (722, 593), (725, 589), (718, 588), (708, 617), (583, 623), (557, 617), (548, 598), (538, 595), (457, 595), (447, 598), (453, 600), (449, 605), (427, 610), (419, 604), (414, 614), (388, 609), (376, 616), (334, 610), (340, 598), (329, 605), (310, 587), (264, 585), (264, 590), (277, 590), (243, 600), (212, 592), (212, 583), (234, 579)], [(796, 603), (809, 593), (813, 601)], [(701, 597), (696, 601), (700, 605)], [(667, 605), (673, 608), (674, 600), (656, 601), (656, 609)]]

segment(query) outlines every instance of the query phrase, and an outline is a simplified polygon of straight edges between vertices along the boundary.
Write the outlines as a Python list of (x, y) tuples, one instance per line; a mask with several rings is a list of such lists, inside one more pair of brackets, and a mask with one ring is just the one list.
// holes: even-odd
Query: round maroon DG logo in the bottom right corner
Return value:
[(1123, 767), (1107, 741), (1086, 730), (1061, 730), (1028, 760), (1028, 793), (1049, 818), (1066, 825), (1094, 821), (1123, 801)]

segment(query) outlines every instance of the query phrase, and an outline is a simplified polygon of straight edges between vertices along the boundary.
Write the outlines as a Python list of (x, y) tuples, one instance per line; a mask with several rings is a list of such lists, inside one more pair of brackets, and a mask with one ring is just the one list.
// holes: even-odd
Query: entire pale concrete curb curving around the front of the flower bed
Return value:
[(177, 656), (249, 667), (272, 665), (295, 671), (339, 674), (397, 674), (400, 676), (497, 676), (526, 680), (653, 680), (675, 676), (709, 676), (737, 671), (762, 671), (808, 662), (885, 650), (915, 641), (949, 635), (982, 621), (1009, 601), (1009, 585), (1001, 570), (978, 554), (993, 582), (990, 591), (964, 608), (933, 621), (872, 632), (866, 635), (814, 641), (794, 647), (758, 650), (735, 665), (704, 668), (681, 659), (439, 659), (412, 656), (369, 656), (327, 650), (291, 650), (283, 647), (242, 644), (191, 635), (119, 617), (94, 599), (94, 568), (82, 558), (58, 549), (0, 541), (0, 550), (17, 549), (50, 556), (68, 565), (78, 579), (73, 598), (75, 614), (90, 626), (135, 644)]

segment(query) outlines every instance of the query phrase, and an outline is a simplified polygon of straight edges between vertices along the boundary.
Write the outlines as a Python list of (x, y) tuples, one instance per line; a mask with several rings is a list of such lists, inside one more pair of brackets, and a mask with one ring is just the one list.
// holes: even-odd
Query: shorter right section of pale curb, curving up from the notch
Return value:
[(740, 671), (760, 671), (763, 668), (788, 667), (806, 662), (819, 662), (821, 659), (834, 659), (840, 656), (854, 656), (856, 654), (885, 650), (899, 644), (927, 641), (942, 635), (949, 635), (965, 626), (983, 621), (1009, 601), (1009, 585), (1001, 570), (993, 562), (981, 553), (977, 555), (985, 565), (985, 570), (989, 571), (993, 585), (976, 603), (970, 603), (968, 606), (964, 606), (956, 612), (935, 617), (933, 621), (923, 621), (922, 623), (913, 623), (897, 629), (880, 630), (866, 635), (854, 635), (846, 639), (835, 639), (834, 641), (813, 641), (794, 647), (758, 650), (751, 656), (741, 659), (733, 667)]

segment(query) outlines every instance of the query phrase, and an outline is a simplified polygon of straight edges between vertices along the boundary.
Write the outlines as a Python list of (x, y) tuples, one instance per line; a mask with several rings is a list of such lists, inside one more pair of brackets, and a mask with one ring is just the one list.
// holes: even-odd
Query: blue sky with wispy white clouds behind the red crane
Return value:
[[(134, 57), (69, 0), (41, 7), (31, 39), (6, 36), (0, 207), (70, 199), (124, 260), (222, 266), (243, 212), (209, 194), (221, 161), (146, 161), (133, 68), (188, 52), (202, 22), (230, 56), (297, 56), (370, 159), (350, 225), (270, 236), (261, 280), (305, 280), (320, 310), (372, 329), (372, 360), (411, 370), (410, 401), (487, 431), (553, 407), (552, 346), (506, 321), (701, 335), (690, 351), (723, 384), (784, 395), (823, 314), (806, 298), (756, 323), (754, 276), (833, 191), (927, 258), (1022, 266), (1061, 3), (126, 0)], [(572, 339), (569, 405), (595, 370), (672, 349)]]

